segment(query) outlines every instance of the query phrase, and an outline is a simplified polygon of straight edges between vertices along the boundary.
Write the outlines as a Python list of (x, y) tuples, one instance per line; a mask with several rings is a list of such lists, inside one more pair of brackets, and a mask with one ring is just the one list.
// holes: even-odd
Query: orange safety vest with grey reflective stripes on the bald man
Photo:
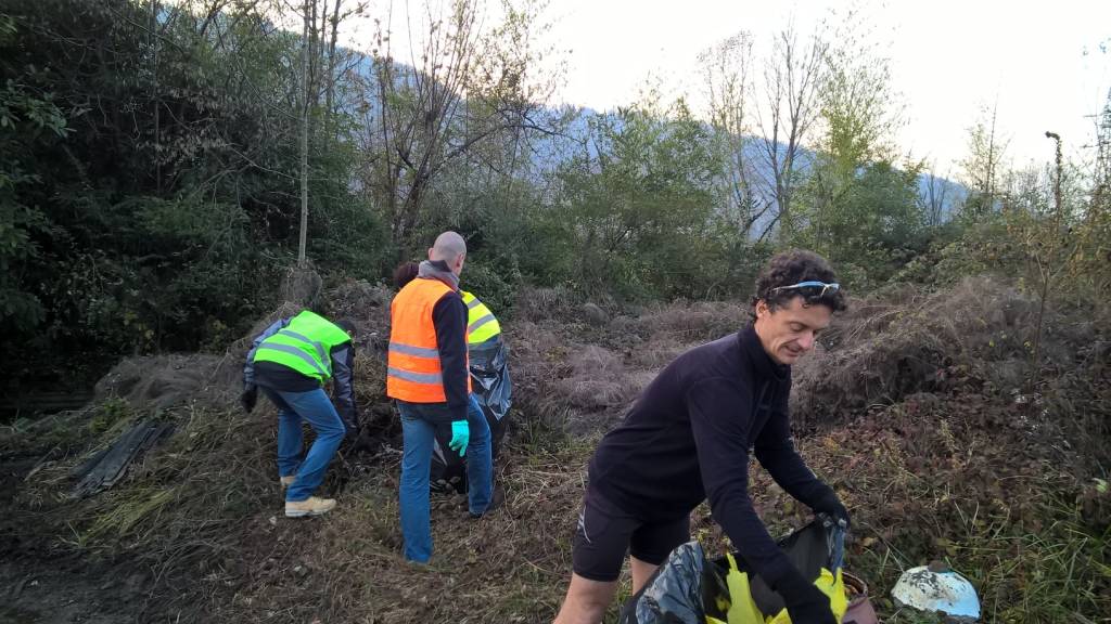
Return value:
[[(386, 395), (410, 403), (447, 403), (432, 309), (453, 292), (440, 280), (418, 278), (390, 303), (390, 352)], [(466, 340), (466, 335), (464, 335)], [(467, 392), (471, 376), (467, 375)]]

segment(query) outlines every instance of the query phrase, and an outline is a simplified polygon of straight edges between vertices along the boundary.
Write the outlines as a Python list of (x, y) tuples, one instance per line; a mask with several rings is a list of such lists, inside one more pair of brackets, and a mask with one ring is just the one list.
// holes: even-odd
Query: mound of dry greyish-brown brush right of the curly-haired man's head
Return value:
[[(795, 424), (849, 417), (958, 382), (1017, 392), (1030, 376), (1038, 304), (1013, 288), (970, 279), (902, 302), (858, 302), (857, 309), (838, 319), (822, 346), (794, 366)], [(1061, 339), (1043, 332), (1047, 361), (1069, 361)]]

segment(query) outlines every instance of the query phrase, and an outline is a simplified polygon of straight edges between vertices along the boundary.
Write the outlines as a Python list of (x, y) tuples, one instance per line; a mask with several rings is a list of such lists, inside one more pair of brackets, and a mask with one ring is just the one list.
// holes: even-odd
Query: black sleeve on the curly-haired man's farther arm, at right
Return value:
[(814, 507), (819, 501), (833, 494), (833, 490), (822, 483), (794, 450), (791, 441), (791, 422), (788, 417), (789, 392), (777, 397), (773, 412), (755, 440), (755, 456), (768, 474), (788, 494), (802, 504)]

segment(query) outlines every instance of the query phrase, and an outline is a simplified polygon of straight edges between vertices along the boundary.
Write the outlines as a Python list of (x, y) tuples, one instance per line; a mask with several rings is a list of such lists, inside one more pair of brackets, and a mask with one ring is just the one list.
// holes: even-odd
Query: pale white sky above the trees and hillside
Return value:
[[(387, 4), (383, 0), (377, 8)], [(669, 94), (685, 94), (699, 110), (700, 51), (748, 30), (759, 67), (773, 33), (789, 20), (809, 32), (829, 18), (832, 7), (844, 10), (848, 4), (551, 0), (549, 42), (569, 50), (557, 100), (607, 110), (634, 101), (653, 77)], [(1111, 88), (1111, 0), (874, 0), (855, 6), (891, 59), (893, 87), (905, 107), (898, 144), (935, 162), (939, 173), (955, 173), (967, 130), (983, 107), (998, 105), (998, 129), (1010, 139), (1015, 165), (1051, 158), (1047, 130), (1060, 133), (1070, 153), (1091, 142), (1093, 121), (1085, 115), (1100, 109)], [(403, 38), (398, 30), (404, 30), (398, 16), (404, 7), (403, 0), (393, 1), (398, 43)], [(493, 14), (487, 19), (496, 20)], [(1101, 44), (1109, 49), (1101, 51)], [(403, 60), (398, 46), (394, 52)]]

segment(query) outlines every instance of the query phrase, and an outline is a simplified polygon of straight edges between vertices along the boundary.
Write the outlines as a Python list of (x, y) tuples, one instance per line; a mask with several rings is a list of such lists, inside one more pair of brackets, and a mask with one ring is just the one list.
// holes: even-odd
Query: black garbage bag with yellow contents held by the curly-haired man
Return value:
[[(815, 520), (779, 542), (840, 617), (848, 607), (841, 566), (844, 530)], [(698, 542), (674, 551), (621, 610), (621, 624), (787, 624), (783, 598), (735, 553), (709, 560)]]

